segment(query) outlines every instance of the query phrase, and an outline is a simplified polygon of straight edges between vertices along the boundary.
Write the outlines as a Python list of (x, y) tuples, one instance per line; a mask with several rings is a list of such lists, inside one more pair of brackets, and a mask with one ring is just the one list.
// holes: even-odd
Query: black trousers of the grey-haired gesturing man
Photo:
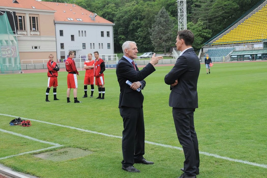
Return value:
[(143, 108), (120, 108), (123, 118), (122, 131), (122, 166), (128, 167), (134, 161), (142, 160), (145, 154), (145, 126)]

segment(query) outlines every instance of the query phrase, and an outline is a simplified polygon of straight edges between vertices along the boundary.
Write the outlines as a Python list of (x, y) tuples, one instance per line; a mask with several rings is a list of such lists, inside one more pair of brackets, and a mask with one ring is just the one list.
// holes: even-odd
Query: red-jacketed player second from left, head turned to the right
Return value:
[(78, 88), (78, 81), (77, 81), (77, 75), (79, 75), (79, 72), (76, 69), (75, 62), (72, 60), (74, 58), (74, 52), (69, 51), (69, 57), (65, 62), (66, 65), (66, 71), (68, 72), (67, 76), (67, 103), (70, 102), (69, 96), (70, 96), (70, 90), (73, 88), (73, 97), (74, 97), (74, 103), (82, 103), (81, 101), (77, 100), (77, 88)]

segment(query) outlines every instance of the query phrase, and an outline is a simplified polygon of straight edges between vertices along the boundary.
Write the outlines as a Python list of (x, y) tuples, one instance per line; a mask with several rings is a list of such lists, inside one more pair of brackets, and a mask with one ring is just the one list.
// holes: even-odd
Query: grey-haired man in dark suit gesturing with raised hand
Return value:
[[(147, 161), (143, 155), (145, 154), (145, 128), (143, 116), (142, 92), (136, 89), (144, 89), (146, 86), (146, 78), (156, 69), (154, 65), (158, 63), (162, 56), (152, 56), (150, 62), (139, 71), (133, 59), (137, 58), (137, 46), (133, 41), (125, 41), (122, 45), (123, 57), (119, 60), (116, 67), (116, 74), (120, 85), (119, 110), (123, 118), (122, 132), (122, 153), (123, 161), (122, 169), (128, 172), (139, 172), (133, 167), (134, 163), (154, 164)], [(132, 85), (129, 86), (125, 82), (129, 80)]]

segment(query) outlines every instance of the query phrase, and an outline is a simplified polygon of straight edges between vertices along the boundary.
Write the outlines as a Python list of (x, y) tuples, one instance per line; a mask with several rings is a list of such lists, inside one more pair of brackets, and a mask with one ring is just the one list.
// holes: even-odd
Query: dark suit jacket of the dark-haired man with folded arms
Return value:
[(178, 84), (171, 88), (170, 107), (198, 108), (197, 82), (199, 71), (199, 58), (193, 48), (186, 50), (179, 56), (174, 67), (164, 78), (168, 85), (173, 84), (178, 79)]

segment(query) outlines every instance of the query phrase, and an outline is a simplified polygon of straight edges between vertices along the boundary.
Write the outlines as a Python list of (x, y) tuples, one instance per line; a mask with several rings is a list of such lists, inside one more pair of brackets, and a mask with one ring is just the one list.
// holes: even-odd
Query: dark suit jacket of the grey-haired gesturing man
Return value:
[(146, 65), (142, 70), (139, 71), (138, 67), (135, 65), (136, 70), (133, 65), (124, 57), (122, 57), (116, 67), (117, 79), (120, 85), (120, 99), (119, 108), (122, 106), (139, 108), (143, 107), (144, 96), (142, 90), (140, 92), (133, 90), (125, 82), (129, 80), (130, 82), (140, 81), (142, 84), (142, 89), (146, 86), (146, 78), (156, 69), (150, 63)]

